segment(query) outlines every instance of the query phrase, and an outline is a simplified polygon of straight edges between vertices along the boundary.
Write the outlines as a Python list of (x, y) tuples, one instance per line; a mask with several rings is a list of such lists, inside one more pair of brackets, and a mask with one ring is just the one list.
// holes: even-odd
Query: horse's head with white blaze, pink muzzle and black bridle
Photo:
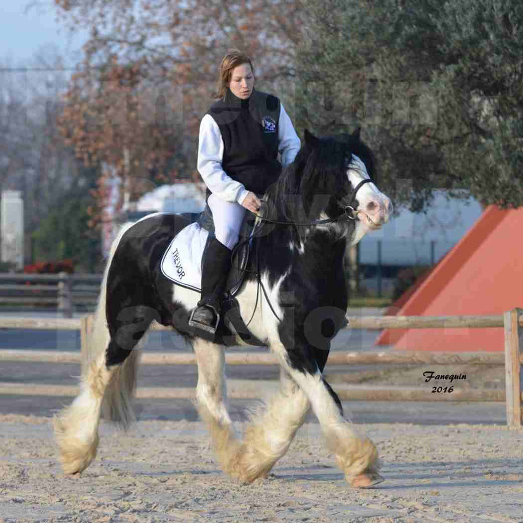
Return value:
[[(329, 169), (334, 187), (326, 208), (329, 217), (346, 212), (355, 221), (351, 243), (356, 244), (368, 231), (381, 229), (389, 221), (392, 203), (376, 186), (374, 158), (369, 147), (353, 134), (316, 138), (305, 130), (305, 144), (312, 149), (324, 150), (331, 156), (329, 162), (338, 167)], [(339, 167), (343, 164), (343, 167)]]

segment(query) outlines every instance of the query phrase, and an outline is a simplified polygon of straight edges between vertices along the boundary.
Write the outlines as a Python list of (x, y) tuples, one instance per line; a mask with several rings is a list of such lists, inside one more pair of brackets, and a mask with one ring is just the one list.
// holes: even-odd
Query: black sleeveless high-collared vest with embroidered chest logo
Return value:
[(225, 97), (214, 103), (207, 114), (220, 128), (225, 173), (247, 190), (263, 195), (281, 173), (278, 98), (253, 89), (251, 96), (242, 100), (228, 88)]

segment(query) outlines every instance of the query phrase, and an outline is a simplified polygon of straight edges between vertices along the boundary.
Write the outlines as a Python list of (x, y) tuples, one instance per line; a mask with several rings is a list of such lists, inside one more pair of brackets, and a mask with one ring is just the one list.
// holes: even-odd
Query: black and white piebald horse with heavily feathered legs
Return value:
[(338, 396), (322, 376), (330, 339), (346, 323), (344, 253), (380, 229), (392, 211), (371, 180), (373, 157), (359, 130), (325, 138), (305, 132), (294, 162), (265, 194), (263, 219), (256, 219), (264, 229), (252, 238), (236, 299), (252, 334), (279, 357), (281, 382), (242, 438), (226, 407), (223, 345), (187, 332), (199, 293), (175, 285), (160, 270), (169, 242), (187, 222), (158, 213), (122, 231), (105, 270), (81, 392), (54, 420), (64, 471), (81, 472), (94, 459), (101, 412), (124, 426), (134, 419), (138, 357), (132, 349), (156, 320), (192, 344), (197, 408), (226, 473), (243, 482), (265, 477), (312, 407), (348, 483), (367, 487), (382, 481), (376, 447), (343, 417)]

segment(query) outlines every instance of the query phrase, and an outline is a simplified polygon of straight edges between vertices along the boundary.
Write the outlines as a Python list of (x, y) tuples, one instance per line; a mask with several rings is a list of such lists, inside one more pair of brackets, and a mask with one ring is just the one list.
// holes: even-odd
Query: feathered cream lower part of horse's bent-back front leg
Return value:
[(240, 478), (251, 482), (266, 477), (287, 452), (303, 425), (310, 403), (287, 371), (280, 371), (280, 390), (264, 409), (253, 413), (245, 430), (238, 468)]

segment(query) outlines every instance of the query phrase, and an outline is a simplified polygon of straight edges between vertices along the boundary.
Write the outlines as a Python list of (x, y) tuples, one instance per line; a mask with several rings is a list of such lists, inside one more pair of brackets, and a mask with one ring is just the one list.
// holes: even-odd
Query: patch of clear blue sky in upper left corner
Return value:
[[(82, 46), (82, 32), (71, 38), (66, 29), (55, 22), (53, 0), (0, 0), (0, 61), (9, 65), (28, 65), (40, 50), (55, 48), (67, 64), (73, 65)], [(76, 56), (76, 59), (75, 59)]]

